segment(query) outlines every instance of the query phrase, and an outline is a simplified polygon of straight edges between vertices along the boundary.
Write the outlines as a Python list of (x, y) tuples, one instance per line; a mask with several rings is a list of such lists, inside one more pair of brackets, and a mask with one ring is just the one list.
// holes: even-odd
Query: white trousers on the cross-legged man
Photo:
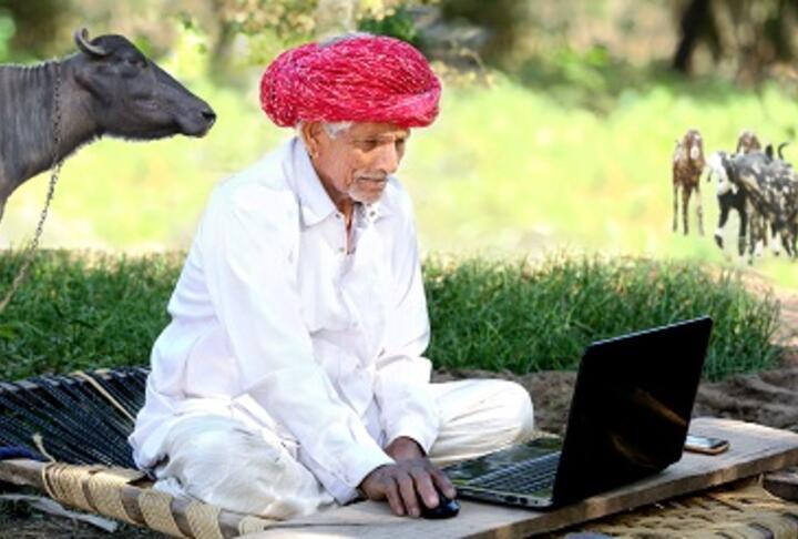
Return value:
[[(532, 401), (495, 379), (432, 384), (440, 430), (429, 457), (446, 466), (529, 439)], [(296, 443), (293, 443), (296, 444)], [(223, 416), (187, 417), (170, 430), (155, 488), (231, 511), (285, 519), (334, 505), (332, 496), (274, 431)]]

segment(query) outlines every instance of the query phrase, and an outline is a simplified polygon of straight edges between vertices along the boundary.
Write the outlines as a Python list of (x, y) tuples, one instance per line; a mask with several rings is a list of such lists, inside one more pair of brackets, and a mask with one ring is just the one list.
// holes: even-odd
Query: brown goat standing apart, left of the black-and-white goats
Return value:
[(704, 221), (700, 205), (700, 175), (705, 166), (704, 141), (700, 133), (690, 129), (681, 141), (676, 142), (673, 155), (673, 192), (674, 218), (673, 231), (676, 232), (678, 220), (678, 191), (682, 190), (682, 217), (684, 233), (689, 232), (687, 209), (693, 191), (696, 192), (696, 215), (698, 217), (698, 234), (704, 235)]

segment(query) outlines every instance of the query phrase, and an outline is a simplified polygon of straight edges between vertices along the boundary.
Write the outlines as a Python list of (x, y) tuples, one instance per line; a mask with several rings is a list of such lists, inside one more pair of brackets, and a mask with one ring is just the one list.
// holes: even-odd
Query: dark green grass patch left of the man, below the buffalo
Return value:
[[(0, 378), (146, 365), (182, 258), (40, 252), (0, 315)], [(0, 256), (1, 294), (20, 264)]]

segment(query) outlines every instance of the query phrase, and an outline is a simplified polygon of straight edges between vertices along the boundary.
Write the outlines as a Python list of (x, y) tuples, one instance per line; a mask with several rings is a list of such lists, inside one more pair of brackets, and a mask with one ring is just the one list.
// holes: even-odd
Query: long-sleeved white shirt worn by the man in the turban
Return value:
[(155, 342), (130, 441), (152, 468), (186, 414), (246, 410), (296, 440), (338, 499), (438, 413), (421, 357), (429, 321), (407, 193), (390, 177), (346, 226), (296, 138), (214, 191)]

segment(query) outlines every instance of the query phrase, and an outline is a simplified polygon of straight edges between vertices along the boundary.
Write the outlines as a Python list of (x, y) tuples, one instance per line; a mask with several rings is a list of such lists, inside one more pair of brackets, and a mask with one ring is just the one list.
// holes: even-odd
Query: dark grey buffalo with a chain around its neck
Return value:
[(83, 144), (103, 135), (203, 136), (216, 120), (124, 37), (89, 41), (81, 29), (74, 41), (78, 52), (60, 61), (0, 65), (0, 218), (17, 187)]

